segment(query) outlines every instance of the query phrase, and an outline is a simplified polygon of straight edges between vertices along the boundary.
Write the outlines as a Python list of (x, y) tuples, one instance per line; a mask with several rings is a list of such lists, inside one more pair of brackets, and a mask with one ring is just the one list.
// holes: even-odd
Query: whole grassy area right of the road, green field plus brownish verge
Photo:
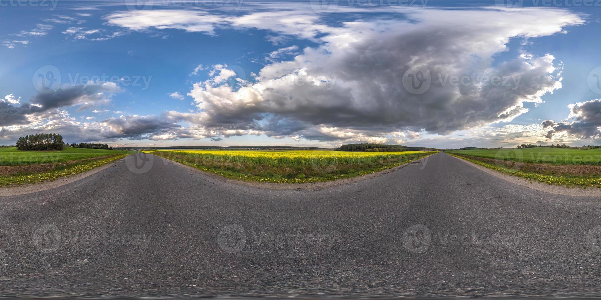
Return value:
[(537, 147), (445, 151), (480, 166), (554, 185), (601, 187), (601, 149)]

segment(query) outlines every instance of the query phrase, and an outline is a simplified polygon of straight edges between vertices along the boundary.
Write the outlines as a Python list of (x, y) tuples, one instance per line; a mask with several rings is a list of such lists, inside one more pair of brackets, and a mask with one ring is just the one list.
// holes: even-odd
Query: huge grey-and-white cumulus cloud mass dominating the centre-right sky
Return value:
[[(523, 103), (541, 103), (542, 95), (561, 88), (560, 69), (552, 55), (522, 53), (510, 61), (495, 61), (495, 55), (507, 50), (511, 38), (556, 34), (584, 22), (569, 11), (535, 8), (515, 15), (413, 11), (410, 20), (357, 20), (338, 27), (318, 23), (317, 16), (290, 16), (288, 11), (253, 13), (230, 22), (319, 37), (322, 46), (266, 65), (256, 82), (240, 86), (227, 80), (233, 70), (216, 67), (212, 79), (196, 83), (189, 93), (199, 109), (198, 125), (273, 137), (391, 140), (400, 131), (449, 134), (511, 121), (528, 111)], [(473, 23), (479, 24), (477, 30)], [(415, 66), (432, 74), (423, 94), (402, 85), (404, 74)], [(465, 76), (467, 84), (448, 80)], [(479, 76), (500, 81), (472, 79)]]

